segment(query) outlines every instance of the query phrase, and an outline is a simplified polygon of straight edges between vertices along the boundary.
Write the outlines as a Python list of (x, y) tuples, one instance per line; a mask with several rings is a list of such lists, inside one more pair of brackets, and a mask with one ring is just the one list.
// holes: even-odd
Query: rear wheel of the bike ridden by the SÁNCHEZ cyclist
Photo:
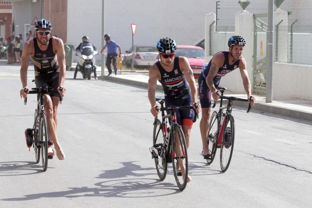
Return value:
[(153, 131), (153, 147), (157, 150), (157, 156), (154, 158), (156, 171), (160, 180), (164, 180), (167, 175), (168, 163), (166, 162), (167, 145), (163, 140), (163, 128), (161, 122), (157, 120)]

